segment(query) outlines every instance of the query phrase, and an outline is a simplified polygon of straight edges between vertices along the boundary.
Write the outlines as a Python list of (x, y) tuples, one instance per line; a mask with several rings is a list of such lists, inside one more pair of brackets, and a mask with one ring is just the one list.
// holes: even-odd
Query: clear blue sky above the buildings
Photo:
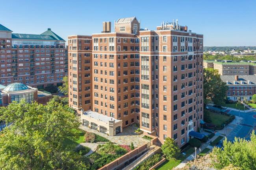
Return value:
[(13, 33), (40, 34), (51, 28), (69, 35), (102, 31), (102, 22), (136, 16), (141, 28), (156, 30), (178, 19), (204, 35), (204, 46), (256, 46), (255, 0), (0, 0), (0, 24)]

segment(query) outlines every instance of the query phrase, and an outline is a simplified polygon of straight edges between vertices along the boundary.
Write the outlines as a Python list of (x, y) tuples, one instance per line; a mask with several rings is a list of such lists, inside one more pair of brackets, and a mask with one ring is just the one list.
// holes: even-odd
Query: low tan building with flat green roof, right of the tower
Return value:
[(256, 75), (255, 61), (204, 60), (204, 68), (218, 69), (220, 75)]

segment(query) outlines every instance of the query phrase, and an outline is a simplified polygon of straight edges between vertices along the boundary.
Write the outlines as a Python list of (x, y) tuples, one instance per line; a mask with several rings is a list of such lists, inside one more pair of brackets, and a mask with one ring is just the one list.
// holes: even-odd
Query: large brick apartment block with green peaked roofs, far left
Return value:
[(37, 89), (60, 86), (68, 75), (65, 40), (50, 28), (40, 35), (12, 32), (0, 24), (0, 83), (20, 82)]

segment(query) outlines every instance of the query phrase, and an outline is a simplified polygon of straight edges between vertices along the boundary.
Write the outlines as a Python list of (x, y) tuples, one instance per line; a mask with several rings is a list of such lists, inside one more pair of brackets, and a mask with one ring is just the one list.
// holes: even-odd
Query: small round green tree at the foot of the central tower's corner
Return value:
[(173, 138), (165, 138), (165, 142), (161, 146), (163, 154), (166, 155), (167, 159), (178, 158), (180, 155), (180, 148), (176, 144)]

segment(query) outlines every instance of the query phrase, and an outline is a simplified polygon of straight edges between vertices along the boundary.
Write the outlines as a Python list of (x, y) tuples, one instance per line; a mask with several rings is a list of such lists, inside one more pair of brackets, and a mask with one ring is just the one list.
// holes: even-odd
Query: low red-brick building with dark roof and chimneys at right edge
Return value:
[(256, 94), (256, 76), (255, 75), (221, 75), (221, 80), (226, 82), (229, 87), (227, 91), (228, 100), (237, 101), (239, 97), (247, 101)]

